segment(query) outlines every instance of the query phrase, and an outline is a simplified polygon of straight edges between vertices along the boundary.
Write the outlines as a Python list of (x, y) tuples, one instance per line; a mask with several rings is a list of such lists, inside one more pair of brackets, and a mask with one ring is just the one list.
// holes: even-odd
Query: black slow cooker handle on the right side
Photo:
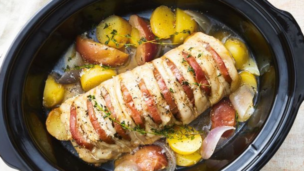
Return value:
[(289, 12), (276, 10), (276, 19), (285, 31), (284, 34), (290, 49), (288, 56), (293, 58), (295, 64), (294, 104), (298, 108), (304, 100), (304, 36), (298, 23)]

